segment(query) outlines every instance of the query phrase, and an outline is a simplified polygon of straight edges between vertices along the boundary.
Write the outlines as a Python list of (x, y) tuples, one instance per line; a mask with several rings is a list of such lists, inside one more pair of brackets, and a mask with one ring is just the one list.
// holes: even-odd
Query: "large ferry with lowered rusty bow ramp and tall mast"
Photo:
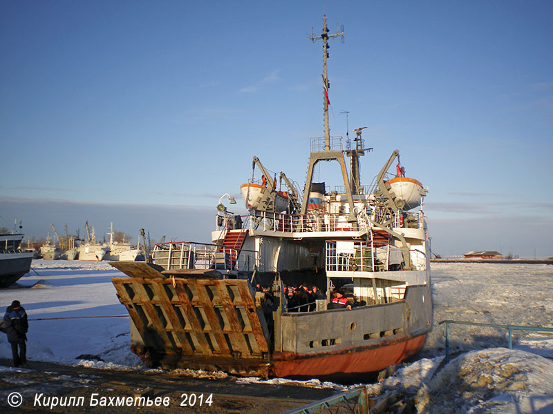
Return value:
[[(112, 281), (147, 366), (335, 379), (420, 351), (432, 324), (427, 190), (404, 177), (397, 151), (362, 185), (363, 128), (353, 143), (330, 136), (328, 41), (342, 34), (324, 17), (311, 37), (323, 41), (325, 136), (311, 139), (303, 191), (254, 157), (240, 186), (249, 214), (220, 200), (213, 244), (167, 242), (149, 262), (111, 263), (129, 276)], [(339, 164), (343, 185), (313, 182), (321, 161)]]

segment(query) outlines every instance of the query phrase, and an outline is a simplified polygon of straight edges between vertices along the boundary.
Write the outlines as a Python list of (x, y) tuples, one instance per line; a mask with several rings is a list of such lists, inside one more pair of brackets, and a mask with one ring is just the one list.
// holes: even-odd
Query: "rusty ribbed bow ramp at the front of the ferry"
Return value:
[(223, 370), (266, 377), (270, 335), (244, 279), (216, 270), (163, 270), (147, 263), (110, 262), (131, 317), (131, 349), (147, 366)]

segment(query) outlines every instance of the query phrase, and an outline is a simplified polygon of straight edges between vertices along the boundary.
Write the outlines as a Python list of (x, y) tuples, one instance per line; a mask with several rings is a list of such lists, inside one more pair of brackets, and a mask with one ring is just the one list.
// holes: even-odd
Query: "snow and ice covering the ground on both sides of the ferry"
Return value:
[[(2, 312), (18, 299), (29, 319), (126, 315), (111, 284), (111, 277), (122, 274), (106, 262), (35, 260), (32, 268), (39, 274), (31, 272), (16, 286), (0, 290)], [(511, 351), (506, 331), (453, 325), (452, 358), (443, 366), (444, 326), (438, 325), (456, 319), (552, 326), (553, 266), (432, 264), (432, 279), (434, 325), (420, 359), (368, 388), (416, 395), (421, 413), (553, 413), (553, 335), (515, 332)], [(31, 320), (28, 357), (97, 368), (140, 368), (129, 339), (127, 317)], [(11, 357), (6, 335), (0, 335), (0, 357)], [(240, 381), (266, 383), (259, 378)], [(317, 380), (302, 385), (344, 389)]]

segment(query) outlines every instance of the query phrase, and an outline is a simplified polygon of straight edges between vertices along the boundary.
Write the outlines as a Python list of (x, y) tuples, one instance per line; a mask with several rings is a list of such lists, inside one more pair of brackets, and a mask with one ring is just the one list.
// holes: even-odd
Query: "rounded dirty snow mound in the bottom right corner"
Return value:
[(553, 362), (505, 348), (449, 362), (417, 395), (419, 413), (552, 413)]

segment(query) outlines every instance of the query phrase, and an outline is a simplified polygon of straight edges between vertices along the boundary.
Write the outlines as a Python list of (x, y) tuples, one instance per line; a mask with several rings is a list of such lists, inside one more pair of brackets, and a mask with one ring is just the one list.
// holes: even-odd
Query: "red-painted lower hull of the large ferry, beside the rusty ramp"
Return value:
[[(321, 377), (336, 373), (358, 374), (382, 371), (388, 366), (399, 364), (407, 357), (420, 351), (426, 335), (393, 344), (382, 344), (374, 348), (348, 351), (346, 353), (310, 355), (294, 359), (278, 359), (288, 355), (274, 355), (272, 375), (275, 377), (311, 376)], [(292, 355), (290, 355), (292, 357)]]

